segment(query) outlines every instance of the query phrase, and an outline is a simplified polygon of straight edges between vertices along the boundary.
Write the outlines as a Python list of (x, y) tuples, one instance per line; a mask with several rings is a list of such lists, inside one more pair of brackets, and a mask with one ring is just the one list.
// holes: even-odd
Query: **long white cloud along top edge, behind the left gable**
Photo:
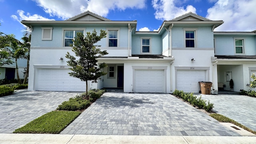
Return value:
[(68, 19), (90, 10), (100, 16), (107, 16), (109, 10), (144, 8), (146, 0), (34, 0), (50, 16)]

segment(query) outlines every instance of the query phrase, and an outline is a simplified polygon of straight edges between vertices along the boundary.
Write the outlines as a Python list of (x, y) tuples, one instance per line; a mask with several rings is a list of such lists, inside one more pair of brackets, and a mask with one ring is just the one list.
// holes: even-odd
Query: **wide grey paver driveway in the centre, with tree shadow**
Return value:
[(61, 134), (240, 136), (170, 94), (106, 92)]

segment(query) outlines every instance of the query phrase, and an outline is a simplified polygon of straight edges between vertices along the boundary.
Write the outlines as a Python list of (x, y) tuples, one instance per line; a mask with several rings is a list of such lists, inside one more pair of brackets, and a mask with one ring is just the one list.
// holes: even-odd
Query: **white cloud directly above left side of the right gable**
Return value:
[(155, 18), (157, 20), (172, 20), (188, 12), (196, 14), (196, 8), (187, 5), (186, 8), (176, 6), (178, 0), (152, 0), (153, 8), (156, 10)]

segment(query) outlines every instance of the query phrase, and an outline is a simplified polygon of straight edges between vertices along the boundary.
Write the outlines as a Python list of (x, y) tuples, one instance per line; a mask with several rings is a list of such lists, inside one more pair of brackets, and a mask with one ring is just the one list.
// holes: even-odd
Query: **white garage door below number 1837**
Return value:
[(134, 92), (164, 92), (164, 70), (135, 70)]

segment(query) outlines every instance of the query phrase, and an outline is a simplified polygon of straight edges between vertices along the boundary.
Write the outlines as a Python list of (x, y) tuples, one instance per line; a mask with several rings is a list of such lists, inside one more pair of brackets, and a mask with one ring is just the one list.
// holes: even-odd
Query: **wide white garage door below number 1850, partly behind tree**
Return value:
[(85, 91), (86, 84), (69, 76), (69, 69), (38, 69), (39, 91)]

